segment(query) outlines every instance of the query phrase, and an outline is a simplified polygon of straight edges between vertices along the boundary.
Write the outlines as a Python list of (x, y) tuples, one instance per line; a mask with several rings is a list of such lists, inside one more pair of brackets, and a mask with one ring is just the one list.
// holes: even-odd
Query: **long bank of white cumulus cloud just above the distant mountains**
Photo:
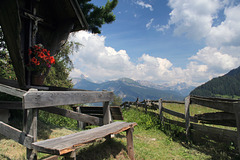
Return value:
[(104, 36), (84, 31), (71, 37), (72, 41), (82, 44), (71, 57), (75, 67), (71, 77), (84, 74), (97, 82), (129, 77), (156, 83), (187, 82), (197, 85), (203, 80), (208, 80), (212, 75), (207, 66), (210, 61), (207, 64), (198, 63), (203, 60), (202, 55), (207, 51), (199, 51), (198, 56), (189, 59), (186, 69), (182, 69), (175, 67), (166, 58), (153, 57), (147, 53), (142, 54), (138, 61), (133, 63), (125, 50), (116, 51), (112, 47), (105, 46), (105, 39)]

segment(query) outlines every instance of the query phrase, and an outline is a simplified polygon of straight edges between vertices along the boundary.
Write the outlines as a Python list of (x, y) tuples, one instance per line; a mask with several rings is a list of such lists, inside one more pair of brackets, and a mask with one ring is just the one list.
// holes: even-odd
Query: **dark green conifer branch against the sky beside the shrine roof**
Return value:
[(93, 33), (101, 33), (100, 28), (103, 24), (115, 21), (115, 15), (112, 11), (117, 6), (118, 0), (108, 0), (102, 7), (95, 6), (93, 3), (89, 3), (90, 1), (78, 0), (78, 3), (88, 22), (89, 29)]

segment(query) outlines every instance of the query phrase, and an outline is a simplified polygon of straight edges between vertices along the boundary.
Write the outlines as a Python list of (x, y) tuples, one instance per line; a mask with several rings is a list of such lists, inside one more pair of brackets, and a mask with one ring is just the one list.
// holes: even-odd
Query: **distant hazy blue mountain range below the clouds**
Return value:
[(84, 76), (73, 79), (74, 88), (86, 90), (108, 90), (120, 96), (123, 101), (140, 101), (144, 99), (183, 100), (192, 90), (192, 86), (180, 83), (175, 86), (163, 86), (148, 81), (135, 81), (130, 78), (120, 78), (114, 81), (94, 83)]

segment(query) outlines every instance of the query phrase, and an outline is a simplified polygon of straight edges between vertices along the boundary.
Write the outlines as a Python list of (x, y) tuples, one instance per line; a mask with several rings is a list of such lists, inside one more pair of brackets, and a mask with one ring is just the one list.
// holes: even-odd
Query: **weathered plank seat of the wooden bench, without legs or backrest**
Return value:
[(92, 142), (99, 138), (106, 137), (110, 134), (120, 133), (122, 131), (133, 128), (136, 125), (137, 123), (135, 122), (114, 122), (90, 130), (85, 130), (58, 138), (35, 142), (32, 144), (32, 146), (34, 149), (40, 152), (63, 155), (73, 151), (78, 146)]

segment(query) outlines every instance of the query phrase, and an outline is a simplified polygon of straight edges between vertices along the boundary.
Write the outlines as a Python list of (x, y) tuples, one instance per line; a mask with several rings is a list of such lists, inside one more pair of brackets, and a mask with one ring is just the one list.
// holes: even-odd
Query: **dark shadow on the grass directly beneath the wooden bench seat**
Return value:
[(81, 160), (102, 160), (102, 159), (128, 159), (126, 146), (121, 142), (110, 139), (104, 142), (95, 142), (88, 147), (80, 149), (77, 159)]

